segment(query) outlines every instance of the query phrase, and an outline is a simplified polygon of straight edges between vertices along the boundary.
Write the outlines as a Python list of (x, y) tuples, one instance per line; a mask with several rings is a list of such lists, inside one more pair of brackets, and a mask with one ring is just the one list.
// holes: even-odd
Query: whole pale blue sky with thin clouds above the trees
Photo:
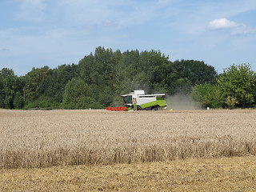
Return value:
[(256, 71), (256, 1), (0, 0), (0, 69), (78, 64), (98, 46)]

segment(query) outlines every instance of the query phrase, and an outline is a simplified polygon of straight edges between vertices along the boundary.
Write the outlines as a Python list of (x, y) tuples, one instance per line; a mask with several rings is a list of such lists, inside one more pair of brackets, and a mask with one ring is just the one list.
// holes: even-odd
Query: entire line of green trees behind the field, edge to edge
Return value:
[(217, 74), (202, 61), (170, 62), (159, 50), (121, 52), (99, 46), (78, 64), (33, 68), (20, 77), (2, 68), (0, 108), (102, 109), (122, 106), (120, 95), (137, 89), (186, 94), (203, 107), (252, 107), (255, 88), (250, 64), (233, 65)]

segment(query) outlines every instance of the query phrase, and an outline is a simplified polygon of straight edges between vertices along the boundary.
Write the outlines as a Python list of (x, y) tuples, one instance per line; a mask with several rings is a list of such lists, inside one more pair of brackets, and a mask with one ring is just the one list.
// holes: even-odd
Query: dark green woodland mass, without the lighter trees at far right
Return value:
[(0, 70), (0, 107), (88, 109), (122, 106), (120, 95), (129, 90), (190, 95), (194, 86), (217, 82), (216, 78), (214, 67), (204, 62), (170, 62), (165, 54), (156, 50), (122, 53), (99, 46), (77, 65), (33, 68), (22, 77), (3, 68)]

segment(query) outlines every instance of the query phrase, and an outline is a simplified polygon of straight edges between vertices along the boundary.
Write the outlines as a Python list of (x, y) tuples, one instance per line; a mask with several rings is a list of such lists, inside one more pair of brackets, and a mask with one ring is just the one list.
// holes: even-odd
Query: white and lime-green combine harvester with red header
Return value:
[(106, 110), (160, 110), (166, 109), (166, 94), (145, 94), (144, 90), (130, 90), (129, 94), (122, 95), (124, 105), (107, 107)]

